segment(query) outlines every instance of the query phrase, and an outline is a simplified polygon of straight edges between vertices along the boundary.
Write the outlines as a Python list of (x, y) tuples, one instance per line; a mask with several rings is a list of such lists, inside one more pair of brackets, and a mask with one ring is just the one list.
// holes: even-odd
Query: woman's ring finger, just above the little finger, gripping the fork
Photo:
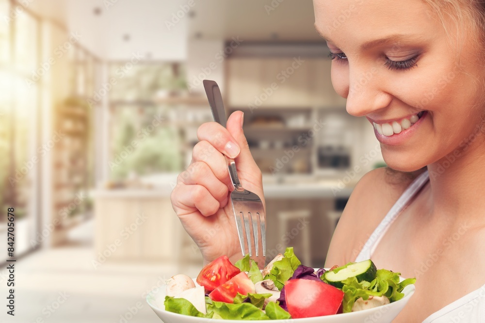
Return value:
[(209, 165), (204, 161), (191, 163), (187, 170), (178, 176), (177, 183), (202, 185), (220, 203), (220, 207), (225, 207), (227, 204), (229, 188), (214, 175)]

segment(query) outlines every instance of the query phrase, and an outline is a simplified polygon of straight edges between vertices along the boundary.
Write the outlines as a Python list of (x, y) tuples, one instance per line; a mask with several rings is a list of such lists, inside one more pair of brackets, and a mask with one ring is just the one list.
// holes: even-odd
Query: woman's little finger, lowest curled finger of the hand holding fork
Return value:
[(172, 191), (171, 199), (178, 216), (195, 210), (204, 216), (210, 216), (220, 208), (220, 203), (202, 185), (178, 184)]

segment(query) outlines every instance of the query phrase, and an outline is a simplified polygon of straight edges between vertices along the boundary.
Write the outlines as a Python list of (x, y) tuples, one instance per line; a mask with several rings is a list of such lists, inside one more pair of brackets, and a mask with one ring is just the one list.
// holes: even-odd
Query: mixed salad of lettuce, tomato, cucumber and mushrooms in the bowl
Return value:
[(333, 315), (386, 305), (404, 297), (400, 273), (371, 260), (325, 271), (307, 267), (287, 248), (262, 271), (249, 255), (234, 265), (226, 256), (206, 265), (196, 287), (187, 275), (167, 281), (165, 310), (201, 318), (285, 320)]

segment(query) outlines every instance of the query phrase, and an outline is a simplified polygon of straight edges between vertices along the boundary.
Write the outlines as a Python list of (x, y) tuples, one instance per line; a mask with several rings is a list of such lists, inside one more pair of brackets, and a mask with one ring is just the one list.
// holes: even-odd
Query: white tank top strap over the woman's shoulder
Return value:
[(425, 171), (413, 180), (411, 185), (406, 188), (404, 193), (399, 197), (396, 203), (388, 211), (388, 214), (386, 214), (381, 223), (375, 228), (374, 232), (372, 232), (369, 240), (367, 240), (367, 242), (364, 244), (364, 247), (358, 254), (355, 260), (356, 262), (371, 258), (375, 248), (388, 230), (388, 227), (392, 224), (392, 222), (397, 218), (401, 211), (408, 205), (409, 201), (413, 198), (413, 196), (418, 193), (418, 191), (424, 186), (424, 184), (426, 184), (428, 180), (428, 171)]

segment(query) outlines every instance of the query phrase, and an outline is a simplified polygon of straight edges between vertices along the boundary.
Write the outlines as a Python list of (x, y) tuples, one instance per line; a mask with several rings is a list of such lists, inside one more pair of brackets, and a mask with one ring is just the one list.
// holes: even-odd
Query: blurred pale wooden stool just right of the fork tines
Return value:
[[(302, 255), (297, 255), (298, 258), (302, 259), (302, 263), (306, 266), (311, 265), (311, 250), (310, 250), (310, 226), (307, 224), (303, 224), (303, 227), (300, 228), (295, 226), (288, 230), (288, 224), (291, 220), (308, 220), (311, 216), (311, 212), (309, 210), (293, 210), (293, 211), (280, 211), (278, 212), (278, 220), (279, 220), (279, 233), (281, 239), (285, 237), (287, 232), (290, 232), (291, 236), (296, 237), (297, 235), (302, 236), (302, 244), (303, 244), (303, 252)], [(308, 220), (309, 221), (309, 220)], [(301, 223), (301, 222), (300, 222)], [(299, 224), (300, 224), (299, 223)], [(297, 232), (291, 232), (294, 229), (298, 230)], [(294, 238), (292, 238), (294, 239)], [(290, 242), (290, 245), (292, 243)]]

